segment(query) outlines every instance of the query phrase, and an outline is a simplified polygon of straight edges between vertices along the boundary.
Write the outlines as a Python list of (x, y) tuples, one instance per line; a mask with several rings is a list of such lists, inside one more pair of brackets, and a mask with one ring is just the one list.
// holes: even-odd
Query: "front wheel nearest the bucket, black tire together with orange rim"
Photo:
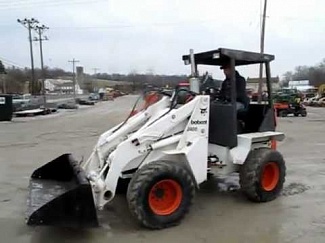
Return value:
[(162, 229), (178, 225), (195, 195), (193, 176), (170, 161), (144, 165), (130, 181), (127, 201), (131, 214), (145, 227)]

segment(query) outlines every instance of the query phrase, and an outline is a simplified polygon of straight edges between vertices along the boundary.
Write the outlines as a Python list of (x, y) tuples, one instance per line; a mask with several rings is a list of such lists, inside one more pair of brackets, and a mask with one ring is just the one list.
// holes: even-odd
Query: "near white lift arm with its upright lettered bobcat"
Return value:
[[(165, 108), (156, 111), (138, 131), (117, 145), (116, 149), (109, 154), (99, 174), (95, 171), (88, 171), (89, 179), (94, 185), (93, 192), (97, 208), (102, 209), (107, 202), (114, 198), (118, 179), (126, 166), (132, 161), (138, 161), (133, 165), (134, 169), (138, 169), (144, 164), (158, 159), (155, 156), (148, 156), (149, 154), (157, 152), (157, 150), (164, 151), (163, 148), (170, 145), (174, 145), (173, 151), (178, 151), (179, 154), (184, 154), (186, 150), (189, 151), (185, 154), (194, 154), (194, 150), (197, 148), (195, 144), (201, 144), (203, 150), (196, 153), (195, 160), (197, 161), (191, 161), (192, 163), (189, 163), (188, 167), (194, 168), (192, 171), (195, 177), (202, 177), (202, 171), (205, 171), (206, 174), (209, 114), (201, 113), (201, 109), (208, 110), (208, 106), (208, 96), (197, 96), (177, 109)], [(202, 124), (199, 124), (200, 119), (204, 120)], [(175, 128), (181, 129), (182, 133), (173, 134)], [(206, 145), (204, 145), (205, 143)], [(150, 158), (148, 159), (148, 157)], [(200, 163), (205, 164), (205, 167)], [(200, 166), (202, 169), (198, 174), (197, 167)], [(108, 170), (106, 175), (105, 170)]]

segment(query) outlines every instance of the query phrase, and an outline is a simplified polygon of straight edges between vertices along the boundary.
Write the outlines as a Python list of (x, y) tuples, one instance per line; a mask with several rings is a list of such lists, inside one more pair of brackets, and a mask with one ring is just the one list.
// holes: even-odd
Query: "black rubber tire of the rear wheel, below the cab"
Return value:
[[(278, 168), (278, 176), (275, 176), (278, 179), (272, 181), (276, 183), (266, 190), (263, 186), (262, 176), (264, 168), (271, 165)], [(239, 182), (241, 190), (249, 200), (268, 202), (279, 196), (285, 182), (285, 175), (286, 166), (282, 155), (270, 148), (260, 148), (252, 150), (241, 166)]]

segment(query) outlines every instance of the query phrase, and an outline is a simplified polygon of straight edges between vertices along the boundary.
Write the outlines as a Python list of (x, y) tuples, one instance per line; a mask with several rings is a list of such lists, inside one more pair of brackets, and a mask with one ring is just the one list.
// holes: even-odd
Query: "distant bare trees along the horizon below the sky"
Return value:
[[(35, 80), (41, 80), (42, 77), (47, 79), (62, 78), (64, 76), (72, 77), (72, 72), (65, 71), (61, 68), (44, 68), (44, 74), (39, 68), (35, 69)], [(7, 67), (6, 74), (2, 75), (2, 80), (5, 80), (7, 93), (22, 93), (26, 89), (26, 81), (32, 78), (30, 68)], [(89, 83), (92, 79), (127, 81), (132, 83), (135, 90), (142, 89), (144, 85), (151, 84), (154, 86), (170, 86), (173, 87), (177, 83), (188, 79), (186, 75), (157, 75), (152, 72), (137, 73), (132, 71), (128, 74), (119, 73), (97, 73), (85, 74), (84, 88), (90, 91)], [(288, 86), (290, 80), (309, 80), (311, 85), (318, 87), (325, 83), (325, 58), (314, 66), (297, 66), (293, 71), (284, 73), (282, 84)], [(0, 83), (3, 81), (0, 81)], [(29, 82), (30, 83), (30, 82)], [(41, 82), (37, 85), (38, 92), (41, 91)], [(3, 92), (3, 85), (0, 85), (0, 91)]]

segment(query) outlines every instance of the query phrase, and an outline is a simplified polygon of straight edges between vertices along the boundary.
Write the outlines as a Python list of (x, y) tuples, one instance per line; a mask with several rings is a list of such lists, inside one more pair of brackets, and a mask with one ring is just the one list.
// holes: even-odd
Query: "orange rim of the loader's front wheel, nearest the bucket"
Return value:
[(157, 215), (174, 213), (182, 202), (183, 192), (178, 182), (162, 180), (157, 182), (149, 192), (149, 206)]

